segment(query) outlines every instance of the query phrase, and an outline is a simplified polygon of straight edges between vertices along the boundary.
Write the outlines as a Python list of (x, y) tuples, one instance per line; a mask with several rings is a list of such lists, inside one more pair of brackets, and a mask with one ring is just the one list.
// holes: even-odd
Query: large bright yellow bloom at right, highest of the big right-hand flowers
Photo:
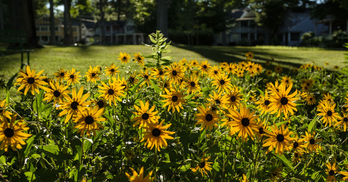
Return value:
[(288, 117), (288, 112), (294, 115), (292, 110), (297, 111), (296, 104), (293, 101), (298, 100), (298, 97), (294, 97), (297, 93), (297, 89), (294, 93), (288, 95), (291, 91), (292, 85), (290, 85), (287, 89), (285, 89), (285, 85), (281, 85), (280, 92), (277, 92), (276, 89), (273, 89), (273, 94), (269, 98), (271, 102), (269, 104), (270, 111), (278, 110), (277, 117), (280, 116), (281, 112), (284, 112), (285, 117)]

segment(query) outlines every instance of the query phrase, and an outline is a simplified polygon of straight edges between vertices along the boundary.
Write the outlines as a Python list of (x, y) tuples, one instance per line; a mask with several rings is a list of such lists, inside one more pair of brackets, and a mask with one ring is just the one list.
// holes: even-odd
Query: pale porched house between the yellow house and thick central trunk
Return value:
[[(144, 33), (135, 31), (134, 22), (127, 21), (105, 21), (105, 43), (106, 44), (141, 44), (144, 42)], [(101, 24), (98, 21), (94, 26), (93, 39), (95, 43), (101, 43)]]

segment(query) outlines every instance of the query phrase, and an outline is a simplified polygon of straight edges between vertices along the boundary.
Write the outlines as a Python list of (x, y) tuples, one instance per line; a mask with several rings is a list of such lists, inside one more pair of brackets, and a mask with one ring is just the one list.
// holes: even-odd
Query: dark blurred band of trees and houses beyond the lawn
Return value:
[(0, 28), (25, 31), (26, 48), (137, 45), (156, 30), (185, 45), (342, 48), (348, 0), (1, 0)]

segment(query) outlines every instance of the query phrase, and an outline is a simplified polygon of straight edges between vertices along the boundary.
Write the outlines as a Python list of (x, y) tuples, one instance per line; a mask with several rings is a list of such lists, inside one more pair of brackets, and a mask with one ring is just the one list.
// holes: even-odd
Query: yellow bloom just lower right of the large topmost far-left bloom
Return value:
[(54, 85), (52, 82), (49, 83), (51, 88), (42, 87), (46, 91), (45, 98), (42, 99), (43, 101), (50, 102), (53, 101), (53, 105), (56, 105), (56, 103), (62, 104), (63, 98), (69, 97), (68, 94), (70, 94), (70, 90), (66, 90), (69, 86), (64, 84), (59, 84), (58, 81), (56, 81), (56, 85)]

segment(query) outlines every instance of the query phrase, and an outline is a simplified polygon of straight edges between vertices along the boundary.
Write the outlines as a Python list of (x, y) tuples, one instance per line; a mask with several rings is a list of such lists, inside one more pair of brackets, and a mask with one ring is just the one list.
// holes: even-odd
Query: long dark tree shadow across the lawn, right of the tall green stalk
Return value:
[[(279, 54), (266, 53), (259, 50), (253, 50), (250, 48), (233, 47), (233, 49), (231, 49), (231, 47), (220, 47), (220, 46), (186, 46), (186, 45), (175, 45), (175, 47), (196, 52), (210, 60), (213, 60), (219, 63), (221, 62), (238, 63), (238, 62), (245, 61), (245, 53), (247, 53), (248, 51), (252, 51), (254, 52), (254, 55), (264, 56), (264, 57), (255, 56), (253, 59), (254, 62), (264, 63), (266, 61), (270, 61), (270, 58), (273, 57), (276, 59), (276, 63), (279, 63), (280, 65), (282, 65), (282, 67), (285, 67), (285, 69), (289, 69), (289, 67), (300, 68), (300, 66), (302, 65), (299, 63), (280, 61), (279, 59), (281, 58)], [(265, 57), (269, 57), (269, 59)], [(292, 57), (287, 56), (286, 58), (289, 58), (292, 60), (299, 60), (299, 61), (303, 60), (303, 58), (293, 57), (293, 56)]]

